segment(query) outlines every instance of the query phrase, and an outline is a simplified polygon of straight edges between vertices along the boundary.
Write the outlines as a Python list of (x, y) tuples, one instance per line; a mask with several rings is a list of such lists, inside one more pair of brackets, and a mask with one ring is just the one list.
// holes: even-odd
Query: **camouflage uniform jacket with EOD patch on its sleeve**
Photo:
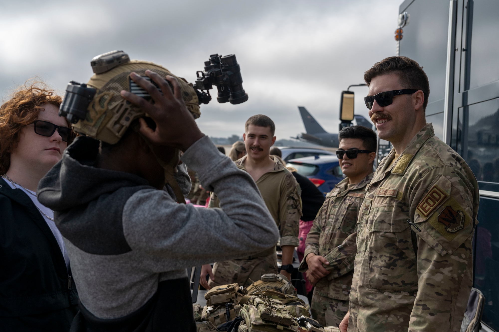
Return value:
[(357, 219), (348, 331), (460, 331), (473, 281), (478, 183), (423, 127), (380, 163)]

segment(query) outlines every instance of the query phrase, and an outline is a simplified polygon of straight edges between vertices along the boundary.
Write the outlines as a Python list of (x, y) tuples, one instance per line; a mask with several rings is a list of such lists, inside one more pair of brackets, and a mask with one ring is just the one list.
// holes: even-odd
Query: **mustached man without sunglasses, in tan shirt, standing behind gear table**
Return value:
[[(236, 165), (253, 177), (262, 198), (280, 231), (282, 265), (291, 266), (294, 247), (299, 244), (298, 228), (301, 217), (301, 200), (296, 179), (277, 159), (269, 155), (275, 142), (275, 125), (265, 115), (254, 115), (248, 119), (243, 135), (248, 154), (236, 161)], [(212, 193), (209, 207), (219, 207), (220, 202)], [(292, 267), (292, 266), (291, 266)], [(205, 288), (239, 283), (247, 287), (251, 280), (259, 280), (262, 274), (278, 273), (275, 247), (251, 256), (215, 263), (213, 272), (210, 264), (203, 265), (200, 283)], [(288, 280), (291, 274), (280, 270)], [(206, 282), (206, 275), (210, 280)]]

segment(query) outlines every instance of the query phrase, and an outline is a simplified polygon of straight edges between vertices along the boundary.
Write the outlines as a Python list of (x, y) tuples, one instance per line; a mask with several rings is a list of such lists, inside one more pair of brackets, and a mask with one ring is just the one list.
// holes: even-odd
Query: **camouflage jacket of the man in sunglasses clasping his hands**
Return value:
[(320, 296), (348, 300), (352, 285), (353, 265), (357, 253), (357, 215), (365, 187), (373, 173), (348, 188), (348, 178), (336, 184), (328, 192), (326, 200), (313, 221), (305, 242), (305, 254), (299, 271), (308, 269), (305, 261), (308, 254), (324, 256), (329, 265), (323, 265), (330, 273), (315, 285)]

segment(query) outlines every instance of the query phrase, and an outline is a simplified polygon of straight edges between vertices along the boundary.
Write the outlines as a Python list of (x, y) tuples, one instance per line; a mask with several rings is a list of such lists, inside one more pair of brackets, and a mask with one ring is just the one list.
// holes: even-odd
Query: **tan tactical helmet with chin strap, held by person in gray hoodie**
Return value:
[[(116, 144), (135, 119), (147, 116), (138, 106), (123, 99), (120, 92), (126, 90), (140, 97), (150, 98), (147, 91), (130, 78), (132, 72), (145, 76), (148, 69), (161, 77), (176, 77), (187, 108), (195, 119), (201, 115), (198, 95), (193, 85), (184, 78), (173, 75), (165, 67), (148, 61), (130, 60), (128, 54), (123, 51), (98, 55), (90, 64), (94, 75), (87, 84), (70, 81), (59, 109), (59, 116), (65, 116), (73, 124), (74, 131), (80, 134), (108, 144)], [(148, 77), (147, 79), (156, 85)], [(138, 126), (133, 129), (138, 131)], [(150, 144), (148, 140), (146, 143)], [(158, 156), (155, 157), (164, 168), (165, 184), (172, 187), (179, 202), (185, 203), (182, 190), (174, 178), (176, 160), (172, 159), (166, 163)]]

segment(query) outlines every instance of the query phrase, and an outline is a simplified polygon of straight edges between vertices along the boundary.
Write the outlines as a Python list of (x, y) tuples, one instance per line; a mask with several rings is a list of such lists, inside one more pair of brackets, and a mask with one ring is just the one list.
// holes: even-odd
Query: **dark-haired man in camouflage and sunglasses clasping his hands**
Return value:
[(299, 269), (315, 286), (311, 311), (323, 326), (338, 326), (348, 312), (357, 253), (357, 214), (376, 156), (377, 138), (369, 128), (346, 127), (338, 138), (337, 155), (347, 177), (326, 195), (307, 235)]

